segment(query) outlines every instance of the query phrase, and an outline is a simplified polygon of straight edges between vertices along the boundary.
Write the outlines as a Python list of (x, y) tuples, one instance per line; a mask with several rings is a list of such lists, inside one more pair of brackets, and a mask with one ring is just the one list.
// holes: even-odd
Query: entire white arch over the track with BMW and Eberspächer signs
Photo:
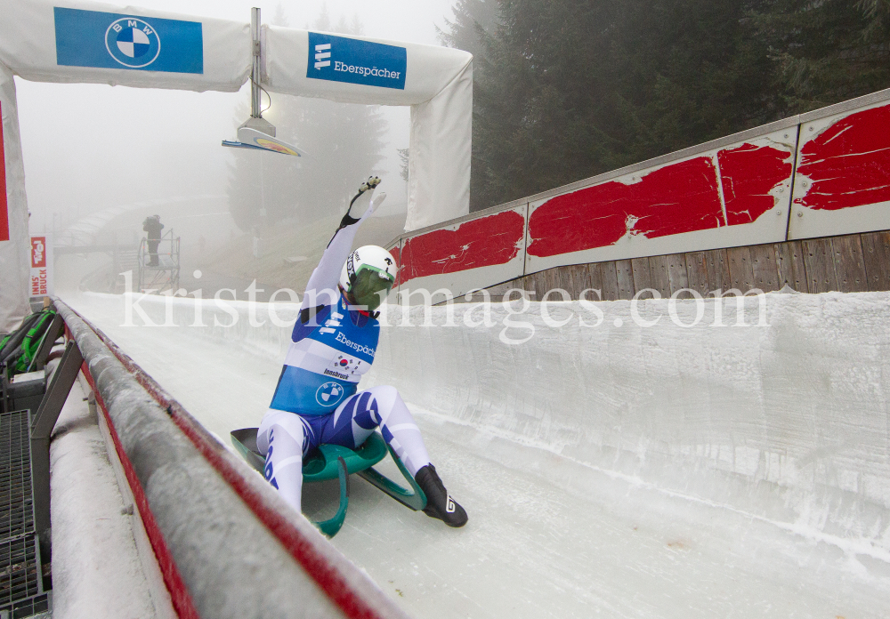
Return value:
[[(0, 331), (28, 312), (28, 208), (13, 76), (411, 107), (407, 229), (469, 213), (473, 56), (445, 47), (109, 4), (21, 0), (0, 20)], [(247, 16), (246, 16), (247, 17)], [(221, 136), (222, 137), (222, 136)]]

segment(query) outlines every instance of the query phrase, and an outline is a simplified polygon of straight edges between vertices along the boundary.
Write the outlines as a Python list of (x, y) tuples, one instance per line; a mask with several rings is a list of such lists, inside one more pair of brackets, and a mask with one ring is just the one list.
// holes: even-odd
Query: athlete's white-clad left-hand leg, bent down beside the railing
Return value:
[(271, 410), (256, 433), (256, 446), (266, 454), (263, 476), (278, 488), (281, 498), (300, 511), (303, 493), (303, 453), (309, 448), (312, 428), (294, 413)]

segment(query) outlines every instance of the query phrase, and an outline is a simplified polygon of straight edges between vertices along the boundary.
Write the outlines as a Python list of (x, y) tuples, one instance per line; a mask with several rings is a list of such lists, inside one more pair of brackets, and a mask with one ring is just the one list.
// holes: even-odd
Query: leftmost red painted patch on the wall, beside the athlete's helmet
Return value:
[(433, 230), (409, 238), (401, 250), (401, 283), (415, 277), (444, 275), (506, 264), (519, 255), (525, 218), (504, 211), (460, 224), (456, 230)]

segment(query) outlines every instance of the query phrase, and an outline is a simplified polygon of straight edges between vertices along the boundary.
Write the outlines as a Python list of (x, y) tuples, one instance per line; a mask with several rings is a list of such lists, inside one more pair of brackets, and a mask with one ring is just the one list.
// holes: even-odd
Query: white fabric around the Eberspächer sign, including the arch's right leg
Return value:
[(402, 90), (309, 78), (309, 31), (264, 26), (262, 36), (262, 80), (270, 91), (346, 103), (412, 106), (406, 229), (425, 228), (470, 212), (472, 54), (449, 47), (334, 35), (405, 48)]

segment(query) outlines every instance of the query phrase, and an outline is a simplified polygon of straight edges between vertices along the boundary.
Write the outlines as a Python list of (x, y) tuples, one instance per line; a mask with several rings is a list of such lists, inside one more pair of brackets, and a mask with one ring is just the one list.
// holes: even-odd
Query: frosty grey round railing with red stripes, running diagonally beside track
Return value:
[(406, 616), (108, 336), (54, 302), (177, 615)]

